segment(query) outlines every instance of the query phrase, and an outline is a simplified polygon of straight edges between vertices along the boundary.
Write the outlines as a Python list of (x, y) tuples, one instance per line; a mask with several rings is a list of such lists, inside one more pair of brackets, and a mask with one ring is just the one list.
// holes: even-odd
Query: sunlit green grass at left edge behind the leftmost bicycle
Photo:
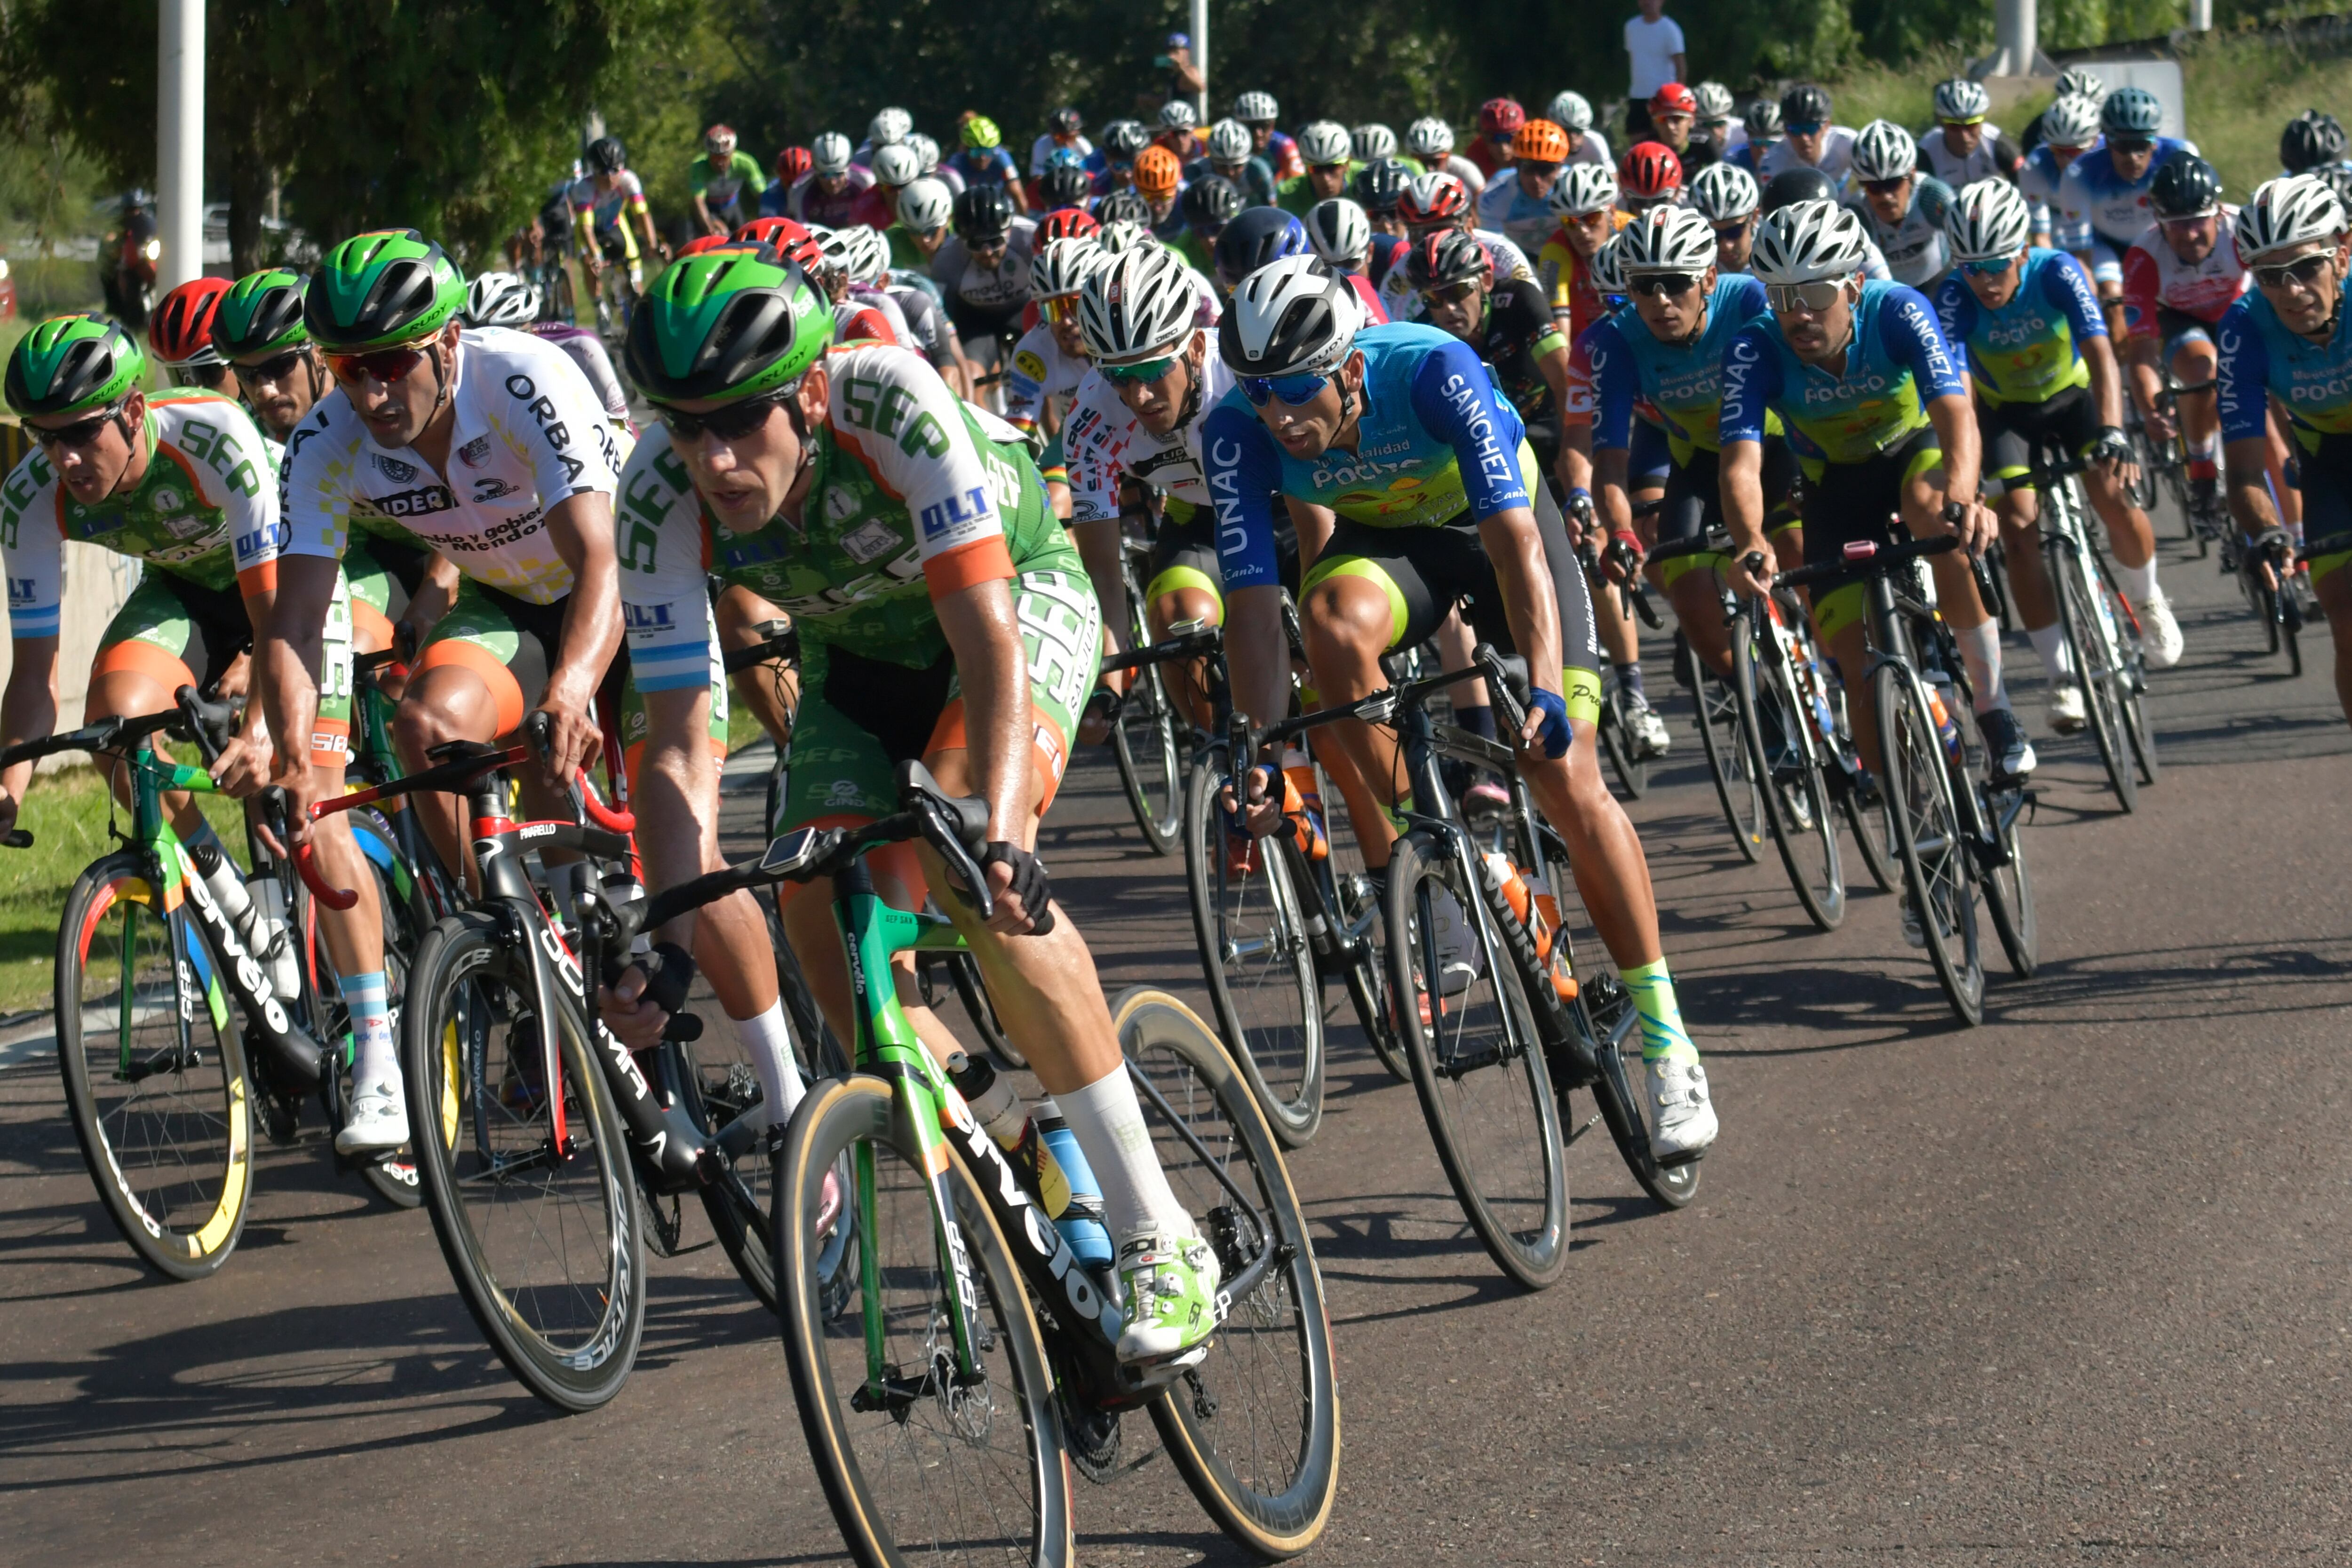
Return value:
[[(200, 795), (214, 832), (245, 863), (245, 816), (223, 795)], [(82, 867), (118, 849), (108, 823), (106, 785), (96, 769), (66, 769), (33, 783), (16, 823), (33, 832), (33, 849), (0, 849), (0, 1013), (49, 1006), (56, 929), (66, 893)], [(129, 830), (129, 813), (115, 813)]]

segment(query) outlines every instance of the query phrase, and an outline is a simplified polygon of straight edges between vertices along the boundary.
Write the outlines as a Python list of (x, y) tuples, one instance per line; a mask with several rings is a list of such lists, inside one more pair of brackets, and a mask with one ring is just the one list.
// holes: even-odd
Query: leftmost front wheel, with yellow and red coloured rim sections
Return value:
[[(169, 1004), (155, 1009), (151, 1001), (141, 1018), (141, 992), (153, 999), (155, 992), (174, 987), (174, 964), (165, 945), (174, 922), (158, 919), (155, 903), (143, 856), (129, 849), (94, 860), (75, 877), (56, 933), (52, 985), (56, 1063), (66, 1084), (73, 1140), (82, 1147), (82, 1164), (99, 1190), (106, 1218), (122, 1232), (132, 1253), (158, 1274), (205, 1279), (238, 1251), (254, 1190), (252, 1079), (238, 1006), (223, 997), (226, 1006), (219, 1011), (191, 1009), (191, 1044), (200, 1034), (212, 1044), (212, 1051), (193, 1063), (176, 1056), (176, 1030), (169, 1037), (158, 1032), (158, 1046), (174, 1051), (174, 1063), (165, 1072), (132, 1081), (127, 1086), (132, 1093), (120, 1105), (108, 1105), (106, 1086), (120, 1081), (122, 1037), (87, 1034), (92, 1009), (113, 1001), (120, 1027), (127, 1001), (132, 1048), (139, 1051), (139, 1025), (155, 1023), (158, 1016), (169, 1018), (174, 1011)], [(146, 919), (136, 919), (132, 910), (146, 912)], [(141, 936), (141, 924), (151, 926), (155, 938)], [(195, 961), (195, 980), (214, 992), (221, 961), (212, 938), (193, 919), (179, 929), (188, 933), (183, 940), (195, 943), (186, 952)], [(101, 976), (120, 973), (125, 945), (129, 997), (122, 997), (120, 983), (113, 997), (92, 990)], [(96, 947), (94, 966), (92, 947)], [(143, 973), (153, 978), (141, 980)], [(99, 1053), (103, 1072), (92, 1072), (92, 1051)], [(143, 1060), (153, 1060), (153, 1053)], [(155, 1084), (155, 1079), (169, 1081)], [(146, 1084), (155, 1088), (146, 1091)], [(141, 1100), (153, 1103), (141, 1105)], [(167, 1171), (193, 1178), (167, 1180)]]

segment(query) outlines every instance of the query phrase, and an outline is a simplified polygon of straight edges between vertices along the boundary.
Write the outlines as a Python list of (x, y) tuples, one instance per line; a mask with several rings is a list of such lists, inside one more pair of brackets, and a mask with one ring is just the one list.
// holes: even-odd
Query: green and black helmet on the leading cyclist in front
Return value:
[(833, 306), (774, 249), (703, 252), (647, 287), (628, 376), (654, 402), (736, 402), (800, 386), (833, 346)]

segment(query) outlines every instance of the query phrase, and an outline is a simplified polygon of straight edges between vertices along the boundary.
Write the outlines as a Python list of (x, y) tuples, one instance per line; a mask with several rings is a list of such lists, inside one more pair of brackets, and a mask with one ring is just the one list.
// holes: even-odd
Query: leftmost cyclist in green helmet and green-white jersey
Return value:
[[(122, 327), (96, 315), (61, 315), (19, 339), (5, 395), (26, 421), (33, 449), (0, 484), (0, 557), (7, 567), (14, 663), (0, 696), (0, 745), (42, 741), (56, 729), (56, 646), (64, 611), (66, 541), (99, 545), (143, 564), (139, 585), (106, 630), (89, 665), (85, 719), (136, 717), (172, 705), (181, 686), (216, 691), (228, 665), (254, 644), (282, 604), (278, 590), (278, 473), (273, 449), (233, 400), (200, 388), (141, 393), (146, 355)], [(350, 748), (348, 592), (341, 578), (320, 592), (313, 644), (325, 686), (336, 693), (301, 726), (263, 703), (247, 703), (240, 731), (212, 764), (230, 795), (252, 795), (268, 771), (301, 773), (320, 790), (343, 788)], [(329, 607), (334, 614), (329, 616)], [(278, 738), (273, 755), (273, 736)], [(287, 736), (301, 736), (294, 748)], [(113, 773), (115, 795), (129, 778)], [(0, 771), (0, 832), (16, 825), (33, 764)], [(292, 997), (299, 957), (282, 912), (235, 886), (235, 863), (186, 792), (165, 797), (181, 844), (223, 907), (247, 907), (240, 936), (270, 985)], [(350, 830), (318, 835), (320, 865), (360, 886), (367, 863)], [(383, 1009), (381, 917), (372, 900), (329, 914), (327, 950), (343, 978), (360, 1041), (360, 1098), (336, 1133), (343, 1154), (407, 1143), (400, 1065)], [(381, 1025), (381, 1027), (379, 1027)], [(386, 1100), (386, 1088), (390, 1100)], [(369, 1095), (374, 1095), (369, 1100)]]

